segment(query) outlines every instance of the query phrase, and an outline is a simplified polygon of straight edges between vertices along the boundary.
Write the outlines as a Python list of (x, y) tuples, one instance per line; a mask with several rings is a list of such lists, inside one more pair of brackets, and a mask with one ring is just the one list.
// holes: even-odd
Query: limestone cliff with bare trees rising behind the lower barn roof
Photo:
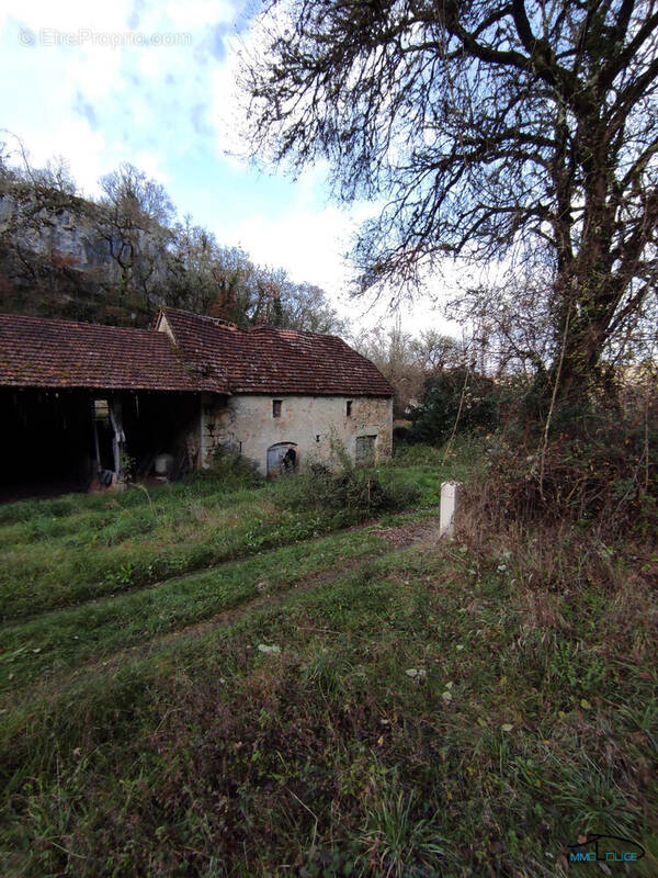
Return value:
[(127, 234), (82, 198), (0, 189), (0, 312), (147, 326), (164, 304), (167, 233)]

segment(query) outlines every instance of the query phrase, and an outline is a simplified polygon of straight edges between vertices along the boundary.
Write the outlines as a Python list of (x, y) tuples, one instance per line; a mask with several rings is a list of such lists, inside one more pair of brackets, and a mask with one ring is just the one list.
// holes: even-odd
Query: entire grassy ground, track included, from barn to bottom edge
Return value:
[(0, 507), (0, 874), (657, 875), (656, 559), (439, 543), (449, 461)]

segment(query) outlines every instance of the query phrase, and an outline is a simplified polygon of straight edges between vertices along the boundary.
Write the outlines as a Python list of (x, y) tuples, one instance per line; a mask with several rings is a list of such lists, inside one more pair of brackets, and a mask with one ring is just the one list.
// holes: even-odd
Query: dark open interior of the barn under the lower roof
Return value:
[(0, 500), (87, 491), (117, 464), (148, 477), (162, 453), (172, 477), (196, 463), (186, 443), (196, 394), (2, 387), (0, 405)]

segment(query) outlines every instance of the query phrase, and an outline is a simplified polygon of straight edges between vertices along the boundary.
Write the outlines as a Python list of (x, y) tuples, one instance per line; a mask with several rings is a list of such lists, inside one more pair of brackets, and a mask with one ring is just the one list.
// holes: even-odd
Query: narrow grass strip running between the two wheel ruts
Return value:
[(382, 552), (376, 528), (295, 543), (206, 573), (54, 610), (4, 626), (0, 691), (20, 691), (88, 660), (175, 631), (313, 574)]

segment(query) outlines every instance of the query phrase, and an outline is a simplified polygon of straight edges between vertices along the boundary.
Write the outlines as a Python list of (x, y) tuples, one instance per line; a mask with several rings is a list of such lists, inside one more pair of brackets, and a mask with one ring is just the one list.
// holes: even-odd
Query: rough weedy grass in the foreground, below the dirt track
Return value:
[(37, 688), (1, 731), (3, 874), (577, 875), (591, 832), (656, 874), (650, 618), (583, 592), (587, 641), (568, 595), (540, 630), (510, 574), (390, 553)]

